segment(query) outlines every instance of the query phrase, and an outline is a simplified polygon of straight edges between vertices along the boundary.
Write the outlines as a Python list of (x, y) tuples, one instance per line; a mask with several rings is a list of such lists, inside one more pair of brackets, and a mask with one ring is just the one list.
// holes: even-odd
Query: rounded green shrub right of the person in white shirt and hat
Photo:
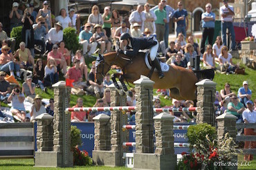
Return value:
[(65, 41), (66, 48), (68, 48), (68, 50), (72, 50), (74, 54), (75, 51), (80, 48), (75, 28), (65, 28), (63, 30), (63, 40)]

